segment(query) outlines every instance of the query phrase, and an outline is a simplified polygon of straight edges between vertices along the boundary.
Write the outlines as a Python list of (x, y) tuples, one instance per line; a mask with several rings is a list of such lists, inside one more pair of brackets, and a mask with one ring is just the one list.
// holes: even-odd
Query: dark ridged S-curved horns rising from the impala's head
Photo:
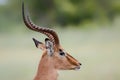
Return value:
[(59, 38), (57, 33), (54, 30), (35, 25), (34, 23), (32, 23), (28, 14), (25, 15), (24, 3), (22, 3), (22, 16), (23, 16), (23, 21), (25, 25), (29, 29), (45, 34), (54, 43), (54, 45), (59, 45)]

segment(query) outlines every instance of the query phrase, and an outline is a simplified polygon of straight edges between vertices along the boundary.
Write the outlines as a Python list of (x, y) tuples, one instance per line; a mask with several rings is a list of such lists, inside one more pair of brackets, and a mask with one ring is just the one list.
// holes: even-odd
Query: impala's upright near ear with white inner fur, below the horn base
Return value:
[(53, 42), (51, 42), (48, 38), (46, 38), (45, 45), (46, 45), (48, 55), (52, 56), (54, 53)]

